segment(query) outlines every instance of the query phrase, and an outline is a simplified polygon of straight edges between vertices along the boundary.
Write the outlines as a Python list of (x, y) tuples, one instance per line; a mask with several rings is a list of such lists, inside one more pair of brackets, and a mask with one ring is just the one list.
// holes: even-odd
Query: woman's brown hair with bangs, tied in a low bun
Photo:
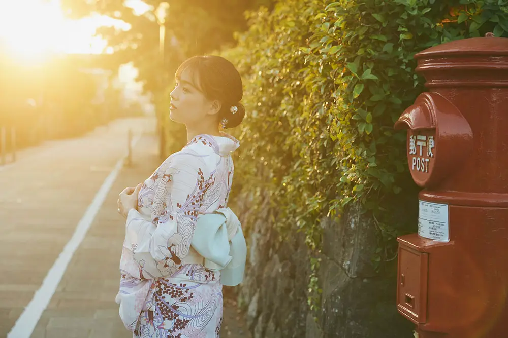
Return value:
[[(209, 100), (219, 100), (219, 120), (226, 118), (226, 128), (238, 126), (245, 117), (245, 107), (240, 103), (243, 97), (243, 84), (240, 73), (235, 66), (223, 57), (215, 55), (194, 56), (185, 60), (178, 67), (175, 77), (179, 79), (182, 72), (189, 69), (190, 78)], [(233, 114), (231, 107), (238, 110)]]

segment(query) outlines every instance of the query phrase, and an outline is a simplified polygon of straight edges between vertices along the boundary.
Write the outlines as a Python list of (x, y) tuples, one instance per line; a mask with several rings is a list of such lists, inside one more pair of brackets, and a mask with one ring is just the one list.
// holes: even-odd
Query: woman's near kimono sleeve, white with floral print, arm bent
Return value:
[(151, 219), (129, 211), (124, 247), (133, 252), (141, 278), (171, 275), (188, 254), (204, 195), (212, 184), (197, 154), (175, 154), (154, 185)]

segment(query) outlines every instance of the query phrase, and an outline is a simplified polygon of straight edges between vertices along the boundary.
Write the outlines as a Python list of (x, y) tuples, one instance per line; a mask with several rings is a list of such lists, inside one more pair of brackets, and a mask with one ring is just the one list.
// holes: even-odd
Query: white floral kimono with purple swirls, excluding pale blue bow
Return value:
[(116, 302), (134, 337), (218, 337), (220, 272), (204, 267), (190, 241), (198, 215), (228, 204), (239, 142), (222, 135), (198, 135), (172, 154), (129, 211)]

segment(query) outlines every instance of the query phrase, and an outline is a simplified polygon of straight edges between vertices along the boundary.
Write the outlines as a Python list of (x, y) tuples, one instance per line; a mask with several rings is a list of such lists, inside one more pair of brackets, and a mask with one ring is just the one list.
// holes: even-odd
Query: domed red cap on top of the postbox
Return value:
[(487, 36), (455, 40), (417, 53), (415, 59), (447, 55), (508, 55), (508, 39), (506, 37)]

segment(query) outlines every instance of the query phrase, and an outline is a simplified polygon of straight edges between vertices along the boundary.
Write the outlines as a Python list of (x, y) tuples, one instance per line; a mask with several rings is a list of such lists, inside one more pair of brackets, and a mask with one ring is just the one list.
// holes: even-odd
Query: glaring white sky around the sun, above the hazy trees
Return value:
[[(141, 0), (125, 0), (136, 14), (150, 6)], [(129, 29), (129, 24), (107, 16), (81, 20), (64, 17), (59, 0), (0, 0), (0, 43), (16, 56), (44, 59), (51, 53), (110, 52), (107, 42), (93, 36), (100, 26)]]

